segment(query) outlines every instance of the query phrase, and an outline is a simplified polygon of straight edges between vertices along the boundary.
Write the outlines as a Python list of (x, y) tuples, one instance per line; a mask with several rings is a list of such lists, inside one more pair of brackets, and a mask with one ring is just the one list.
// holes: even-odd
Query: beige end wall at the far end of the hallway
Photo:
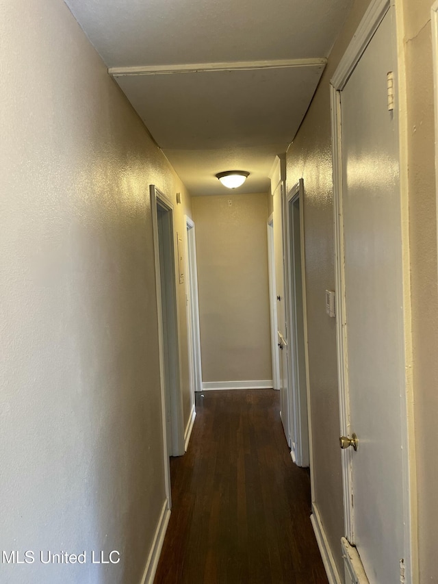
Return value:
[(196, 196), (192, 205), (203, 381), (272, 379), (266, 194)]

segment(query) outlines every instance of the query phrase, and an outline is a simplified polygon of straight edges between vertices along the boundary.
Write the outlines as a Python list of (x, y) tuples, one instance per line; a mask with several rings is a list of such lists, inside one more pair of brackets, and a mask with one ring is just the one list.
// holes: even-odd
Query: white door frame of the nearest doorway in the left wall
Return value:
[[(184, 427), (183, 427), (183, 401), (181, 393), (181, 355), (179, 352), (179, 307), (177, 294), (177, 266), (175, 258), (177, 257), (175, 231), (173, 229), (173, 204), (168, 197), (158, 190), (155, 185), (149, 187), (151, 199), (151, 214), (153, 227), (153, 247), (155, 255), (155, 285), (157, 293), (157, 314), (158, 314), (158, 338), (159, 338), (159, 371), (160, 371), (160, 389), (162, 395), (162, 423), (163, 423), (163, 441), (164, 441), (164, 468), (166, 474), (166, 492), (170, 502), (170, 467), (169, 455), (179, 456), (184, 454)], [(164, 277), (170, 282), (170, 299), (168, 302), (168, 318), (172, 337), (175, 338), (173, 346), (164, 346), (164, 331), (162, 323), (162, 285), (161, 275), (162, 266), (159, 262), (159, 232), (157, 206), (161, 207), (168, 213), (170, 220), (170, 238), (164, 242), (162, 250), (170, 259), (169, 265), (164, 266)], [(172, 383), (170, 384), (171, 397), (171, 424), (172, 424), (172, 444), (167, 444), (167, 423), (166, 423), (166, 359), (165, 351), (168, 352), (169, 368), (172, 372)], [(170, 505), (169, 505), (170, 508)]]

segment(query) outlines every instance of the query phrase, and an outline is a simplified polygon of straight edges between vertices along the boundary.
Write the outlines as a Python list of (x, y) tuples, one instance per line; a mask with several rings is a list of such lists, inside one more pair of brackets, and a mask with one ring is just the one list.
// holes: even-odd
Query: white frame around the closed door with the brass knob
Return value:
[[(368, 46), (372, 36), (383, 21), (394, 0), (373, 0), (365, 12), (363, 19), (352, 38), (344, 57), (339, 62), (335, 74), (331, 79), (331, 132), (333, 148), (333, 186), (334, 201), (333, 212), (335, 222), (335, 272), (336, 272), (336, 325), (337, 325), (337, 370), (339, 385), (339, 418), (341, 435), (350, 435), (350, 411), (348, 402), (347, 371), (348, 355), (346, 351), (346, 305), (345, 305), (345, 273), (344, 273), (344, 218), (342, 209), (342, 130), (341, 130), (341, 92), (359, 62), (361, 55)], [(397, 52), (396, 52), (397, 54)], [(396, 71), (394, 72), (396, 73)], [(396, 116), (397, 117), (397, 116)], [(396, 126), (396, 139), (398, 140), (398, 126)], [(401, 157), (401, 156), (400, 156)], [(401, 242), (400, 242), (401, 244)], [(409, 362), (409, 361), (407, 361)], [(411, 504), (415, 498), (413, 469), (413, 444), (408, 439), (408, 402), (411, 385), (407, 383), (405, 400), (402, 400), (403, 411), (400, 412), (402, 422), (402, 453), (403, 461), (403, 493), (404, 493), (404, 559), (405, 581), (413, 583), (415, 580), (416, 549), (415, 530), (411, 529), (413, 509)], [(343, 450), (342, 453), (342, 483), (344, 491), (344, 532), (349, 542), (355, 541), (353, 531), (353, 516), (351, 507), (352, 493), (352, 448)], [(354, 551), (355, 548), (352, 548)], [(415, 554), (414, 554), (415, 555)]]

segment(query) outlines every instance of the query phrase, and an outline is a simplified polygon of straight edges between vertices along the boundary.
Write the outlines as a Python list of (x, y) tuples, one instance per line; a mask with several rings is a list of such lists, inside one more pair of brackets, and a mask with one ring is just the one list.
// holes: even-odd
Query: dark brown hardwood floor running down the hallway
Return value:
[(279, 393), (196, 394), (188, 452), (170, 460), (172, 514), (155, 584), (326, 584), (309, 472), (292, 463)]

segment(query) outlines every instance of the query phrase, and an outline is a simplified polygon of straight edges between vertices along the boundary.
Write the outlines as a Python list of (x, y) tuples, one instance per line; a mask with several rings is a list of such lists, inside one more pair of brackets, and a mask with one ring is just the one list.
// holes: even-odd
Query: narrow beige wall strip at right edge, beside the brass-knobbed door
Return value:
[[(420, 583), (438, 582), (438, 295), (431, 0), (403, 0)], [(401, 3), (400, 3), (401, 8)]]

